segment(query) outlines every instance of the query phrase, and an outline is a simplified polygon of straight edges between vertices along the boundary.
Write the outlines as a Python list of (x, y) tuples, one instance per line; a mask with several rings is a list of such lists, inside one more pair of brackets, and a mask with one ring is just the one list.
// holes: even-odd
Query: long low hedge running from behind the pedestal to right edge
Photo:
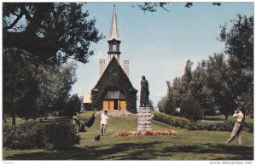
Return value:
[[(161, 112), (154, 112), (154, 120), (159, 122), (165, 122), (174, 127), (186, 128), (188, 130), (208, 130), (208, 131), (232, 131), (235, 122), (224, 121), (224, 122), (190, 122), (188, 119), (183, 117), (173, 117)], [(244, 123), (244, 130), (253, 133), (253, 123)]]

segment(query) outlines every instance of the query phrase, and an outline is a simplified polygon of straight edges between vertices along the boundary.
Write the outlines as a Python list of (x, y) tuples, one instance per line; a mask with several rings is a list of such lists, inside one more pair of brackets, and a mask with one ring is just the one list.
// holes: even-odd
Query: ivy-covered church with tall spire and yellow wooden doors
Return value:
[(113, 19), (108, 37), (108, 65), (105, 66), (105, 60), (99, 61), (100, 78), (91, 89), (91, 106), (97, 111), (127, 110), (136, 113), (137, 89), (133, 88), (129, 79), (129, 60), (124, 60), (124, 69), (119, 64), (120, 43), (117, 16), (113, 7)]

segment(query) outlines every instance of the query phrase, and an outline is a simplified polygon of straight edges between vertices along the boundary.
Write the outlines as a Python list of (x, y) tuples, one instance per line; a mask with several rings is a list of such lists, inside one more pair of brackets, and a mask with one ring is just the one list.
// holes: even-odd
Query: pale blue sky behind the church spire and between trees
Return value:
[[(218, 37), (220, 25), (231, 26), (230, 20), (236, 14), (253, 15), (253, 3), (194, 3), (190, 9), (184, 3), (170, 3), (170, 12), (159, 10), (144, 13), (131, 8), (137, 3), (115, 3), (119, 27), (120, 65), (130, 61), (130, 80), (140, 94), (140, 81), (144, 75), (149, 83), (149, 99), (157, 105), (166, 95), (166, 80), (183, 75), (187, 60), (194, 67), (209, 55), (224, 52), (224, 43)], [(95, 54), (87, 64), (79, 63), (78, 81), (73, 85), (72, 94), (82, 96), (90, 92), (99, 79), (99, 60), (108, 62), (108, 35), (111, 26), (113, 3), (87, 3), (90, 18), (96, 18), (96, 28), (105, 39), (93, 44)], [(138, 104), (137, 104), (138, 105)]]

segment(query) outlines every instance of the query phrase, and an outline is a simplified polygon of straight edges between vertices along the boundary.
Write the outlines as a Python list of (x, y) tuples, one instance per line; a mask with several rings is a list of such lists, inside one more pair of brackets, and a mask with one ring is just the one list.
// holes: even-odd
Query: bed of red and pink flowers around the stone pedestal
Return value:
[(146, 136), (146, 135), (173, 135), (177, 134), (174, 130), (167, 131), (119, 131), (113, 134), (113, 136)]

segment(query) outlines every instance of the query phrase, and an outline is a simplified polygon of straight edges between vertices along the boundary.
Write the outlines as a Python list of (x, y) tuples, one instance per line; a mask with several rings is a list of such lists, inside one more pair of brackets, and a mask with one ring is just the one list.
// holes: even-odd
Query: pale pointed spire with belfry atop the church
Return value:
[(113, 5), (113, 17), (112, 17), (112, 24), (110, 28), (110, 33), (108, 37), (108, 60), (110, 61), (113, 57), (115, 57), (119, 61), (119, 28), (117, 25), (117, 16), (115, 11), (115, 5)]

